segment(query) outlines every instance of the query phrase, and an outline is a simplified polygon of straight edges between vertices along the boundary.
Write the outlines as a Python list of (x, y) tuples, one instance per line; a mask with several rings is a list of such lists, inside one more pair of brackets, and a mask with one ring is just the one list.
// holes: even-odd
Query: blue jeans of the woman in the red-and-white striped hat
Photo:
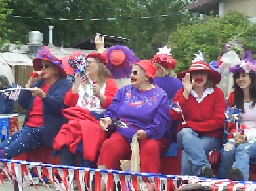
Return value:
[(198, 136), (191, 128), (183, 128), (177, 135), (181, 155), (181, 175), (200, 175), (202, 167), (211, 167), (207, 156), (213, 149), (219, 148), (215, 137)]

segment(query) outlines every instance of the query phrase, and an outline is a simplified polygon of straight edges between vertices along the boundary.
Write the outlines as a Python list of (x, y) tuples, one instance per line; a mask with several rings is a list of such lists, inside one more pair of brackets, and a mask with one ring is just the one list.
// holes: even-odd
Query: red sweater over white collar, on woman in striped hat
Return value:
[(207, 135), (216, 138), (223, 136), (226, 103), (222, 90), (217, 87), (213, 89), (214, 92), (208, 94), (201, 103), (198, 103), (192, 94), (186, 99), (183, 96), (184, 88), (178, 90), (173, 101), (179, 102), (186, 120), (186, 125), (182, 126), (182, 114), (170, 109), (171, 118), (179, 120), (178, 131), (190, 127), (199, 136)]

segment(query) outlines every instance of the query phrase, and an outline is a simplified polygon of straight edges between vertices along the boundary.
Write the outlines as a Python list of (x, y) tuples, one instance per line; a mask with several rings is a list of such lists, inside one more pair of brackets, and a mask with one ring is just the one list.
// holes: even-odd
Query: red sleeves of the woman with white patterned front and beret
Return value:
[[(110, 105), (112, 99), (116, 95), (117, 90), (118, 88), (116, 81), (113, 79), (106, 79), (106, 88), (104, 92), (104, 95), (106, 96), (106, 102), (104, 105), (101, 105), (102, 108), (106, 109)], [(70, 91), (68, 91), (64, 97), (64, 105), (67, 105), (68, 107), (74, 107), (77, 104), (78, 98), (78, 93), (73, 94), (72, 89), (70, 89)]]

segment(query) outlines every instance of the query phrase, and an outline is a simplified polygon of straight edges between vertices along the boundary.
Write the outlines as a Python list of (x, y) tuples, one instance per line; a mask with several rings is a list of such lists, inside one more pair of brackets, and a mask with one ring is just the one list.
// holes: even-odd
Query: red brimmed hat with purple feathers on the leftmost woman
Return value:
[(63, 69), (62, 61), (53, 56), (46, 46), (42, 46), (41, 50), (35, 54), (35, 59), (33, 60), (33, 67), (37, 71), (41, 71), (41, 60), (50, 61), (58, 67), (61, 78), (67, 78), (66, 71)]

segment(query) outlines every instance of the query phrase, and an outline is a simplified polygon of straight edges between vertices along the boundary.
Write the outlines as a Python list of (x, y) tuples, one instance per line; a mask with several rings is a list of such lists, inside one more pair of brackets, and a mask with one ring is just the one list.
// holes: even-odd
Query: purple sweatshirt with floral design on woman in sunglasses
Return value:
[(128, 143), (137, 130), (145, 130), (148, 139), (171, 137), (171, 118), (165, 91), (156, 86), (141, 91), (131, 85), (120, 88), (106, 110), (105, 117), (122, 119), (129, 128), (116, 128)]

